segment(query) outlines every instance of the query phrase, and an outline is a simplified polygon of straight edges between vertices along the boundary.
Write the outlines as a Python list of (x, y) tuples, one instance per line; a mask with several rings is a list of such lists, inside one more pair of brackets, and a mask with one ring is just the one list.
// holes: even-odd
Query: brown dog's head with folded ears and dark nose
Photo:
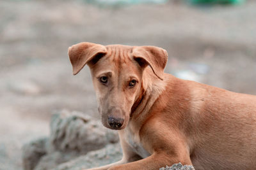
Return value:
[[(110, 129), (124, 129), (132, 110), (143, 93), (143, 71), (151, 67), (163, 80), (166, 50), (156, 46), (103, 46), (79, 43), (68, 48), (73, 74), (87, 64), (97, 94), (102, 124)], [(146, 76), (146, 75), (144, 75)]]

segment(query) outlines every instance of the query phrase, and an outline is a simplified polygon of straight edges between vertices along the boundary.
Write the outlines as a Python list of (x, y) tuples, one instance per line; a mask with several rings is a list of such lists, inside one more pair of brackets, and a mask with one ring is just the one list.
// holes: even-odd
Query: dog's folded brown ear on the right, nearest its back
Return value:
[(150, 66), (158, 78), (163, 80), (168, 53), (156, 46), (134, 46), (132, 55), (141, 67)]

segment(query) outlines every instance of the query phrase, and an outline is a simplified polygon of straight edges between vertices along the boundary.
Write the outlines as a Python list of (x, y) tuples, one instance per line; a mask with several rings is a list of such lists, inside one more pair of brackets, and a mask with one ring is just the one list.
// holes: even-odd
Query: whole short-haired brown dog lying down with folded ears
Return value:
[(123, 159), (95, 169), (256, 169), (256, 96), (164, 73), (156, 46), (79, 43), (77, 74), (90, 67), (102, 124), (119, 130)]

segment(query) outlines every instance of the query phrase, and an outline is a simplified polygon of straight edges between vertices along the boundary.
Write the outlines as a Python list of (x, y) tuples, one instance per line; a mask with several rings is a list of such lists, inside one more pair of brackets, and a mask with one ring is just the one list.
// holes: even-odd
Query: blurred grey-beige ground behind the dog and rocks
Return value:
[(0, 0), (0, 169), (22, 168), (52, 111), (99, 117), (88, 67), (72, 76), (67, 56), (81, 41), (160, 46), (166, 73), (256, 94), (256, 1), (197, 3)]

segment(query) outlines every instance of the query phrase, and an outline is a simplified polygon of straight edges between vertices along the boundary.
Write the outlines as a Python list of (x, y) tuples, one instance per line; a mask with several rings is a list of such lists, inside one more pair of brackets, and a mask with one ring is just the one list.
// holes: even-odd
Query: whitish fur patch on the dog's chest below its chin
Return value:
[(147, 150), (145, 150), (145, 148), (143, 148), (143, 146), (141, 145), (139, 134), (126, 131), (125, 141), (127, 141), (129, 146), (131, 146), (132, 150), (140, 155), (140, 157), (146, 158), (150, 156), (150, 153), (148, 153)]

